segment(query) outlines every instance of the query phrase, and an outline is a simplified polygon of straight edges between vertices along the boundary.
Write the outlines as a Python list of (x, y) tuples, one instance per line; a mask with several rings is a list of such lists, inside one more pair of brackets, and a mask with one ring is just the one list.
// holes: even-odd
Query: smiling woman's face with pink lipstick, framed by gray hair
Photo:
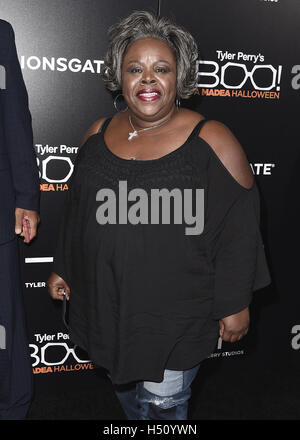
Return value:
[(127, 48), (122, 63), (122, 93), (139, 119), (155, 121), (172, 111), (176, 97), (176, 59), (167, 43), (142, 38)]

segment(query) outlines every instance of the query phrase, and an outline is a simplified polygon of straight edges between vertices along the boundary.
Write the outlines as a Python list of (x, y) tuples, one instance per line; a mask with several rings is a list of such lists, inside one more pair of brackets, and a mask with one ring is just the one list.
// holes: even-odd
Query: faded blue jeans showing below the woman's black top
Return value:
[(114, 385), (128, 420), (187, 420), (191, 383), (200, 363), (189, 370), (164, 370), (162, 382)]

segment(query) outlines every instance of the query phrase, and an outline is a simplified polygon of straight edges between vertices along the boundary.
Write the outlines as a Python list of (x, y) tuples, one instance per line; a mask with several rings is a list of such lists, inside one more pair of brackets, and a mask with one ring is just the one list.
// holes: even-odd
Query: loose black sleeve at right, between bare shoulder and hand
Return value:
[(244, 190), (222, 222), (215, 259), (213, 317), (238, 313), (253, 291), (271, 283), (260, 231), (260, 197), (256, 183)]

